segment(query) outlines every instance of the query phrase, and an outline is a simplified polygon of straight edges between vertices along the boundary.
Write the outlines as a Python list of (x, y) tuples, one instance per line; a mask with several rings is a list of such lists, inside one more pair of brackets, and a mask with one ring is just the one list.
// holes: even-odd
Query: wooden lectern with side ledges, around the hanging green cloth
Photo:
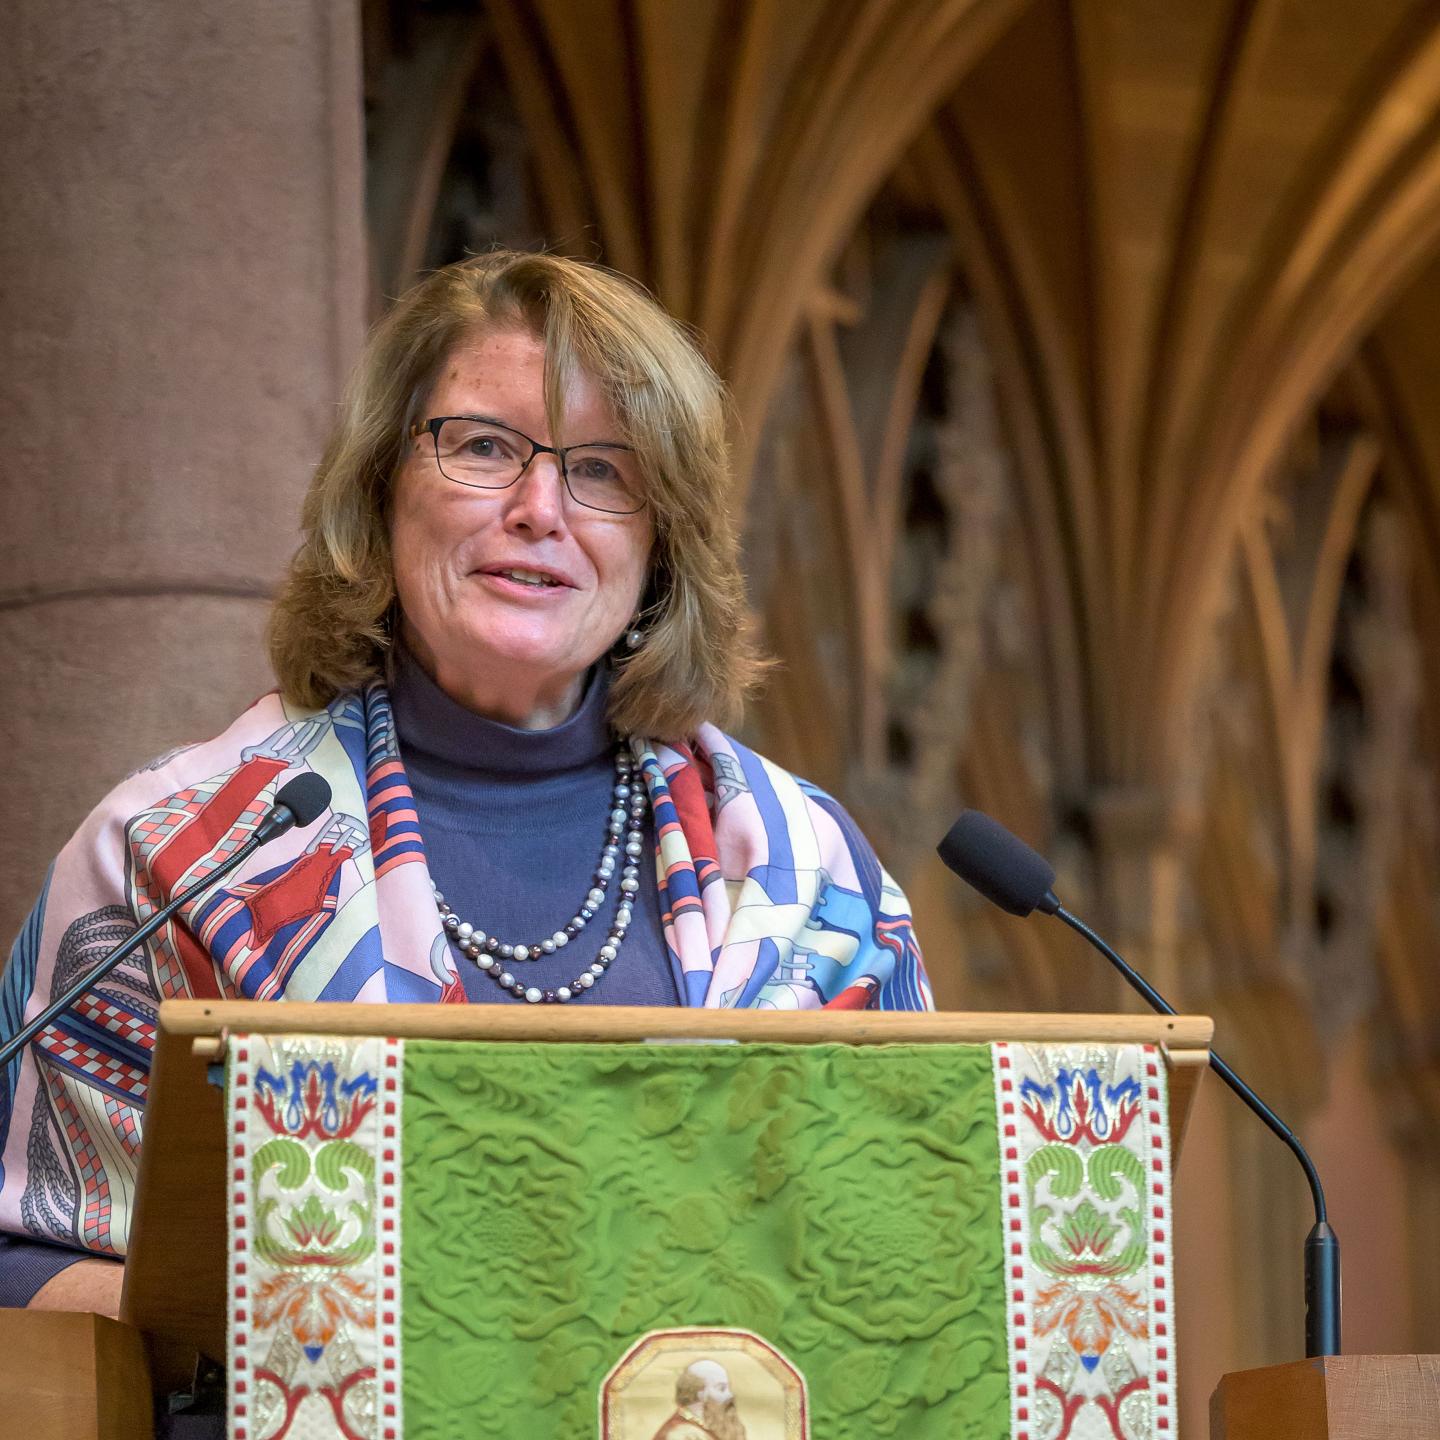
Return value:
[[(281, 1032), (383, 1032), (408, 1040), (484, 1043), (1153, 1044), (1168, 1061), (1171, 1135), (1178, 1153), (1208, 1060), (1212, 1025), (1205, 1017), (1159, 1015), (167, 1002), (160, 1012), (145, 1119), (122, 1302), (125, 1323), (0, 1312), (0, 1414), (13, 1433), (29, 1440), (131, 1440), (148, 1433), (137, 1397), (151, 1385), (156, 1392), (184, 1388), (197, 1355), (225, 1355), (228, 1158), (223, 1093), (212, 1067), (230, 1034)], [(68, 1358), (56, 1368), (59, 1354)], [(1212, 1404), (1214, 1436), (1339, 1440), (1436, 1434), (1437, 1384), (1436, 1362), (1414, 1358), (1346, 1356), (1231, 1375)], [(1404, 1428), (1403, 1417), (1418, 1413), (1417, 1407), (1428, 1407), (1428, 1428)], [(1287, 1414), (1295, 1416), (1289, 1428), (1283, 1418)], [(1385, 1417), (1385, 1423), (1365, 1428), (1368, 1421), (1356, 1418), (1361, 1414), (1375, 1423)], [(1320, 1420), (1308, 1418), (1313, 1416)]]

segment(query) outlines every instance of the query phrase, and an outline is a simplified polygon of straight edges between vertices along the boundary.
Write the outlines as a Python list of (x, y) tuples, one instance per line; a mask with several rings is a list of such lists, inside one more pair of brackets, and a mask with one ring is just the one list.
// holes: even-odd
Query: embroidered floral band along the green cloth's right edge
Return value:
[(1153, 1045), (992, 1056), (1011, 1437), (1174, 1436), (1164, 1060)]

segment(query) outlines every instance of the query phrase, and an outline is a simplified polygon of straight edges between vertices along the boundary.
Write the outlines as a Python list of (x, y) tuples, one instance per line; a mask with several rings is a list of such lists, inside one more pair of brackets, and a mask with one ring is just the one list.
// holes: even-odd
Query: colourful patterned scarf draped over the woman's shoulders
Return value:
[[(701, 726), (632, 742), (683, 1004), (930, 1009), (909, 904), (828, 795)], [(0, 1076), (0, 1228), (124, 1254), (161, 999), (461, 1002), (383, 685), (124, 780), (60, 851), (0, 978), (13, 1034), (255, 829), (310, 769), (330, 811), (184, 907)]]

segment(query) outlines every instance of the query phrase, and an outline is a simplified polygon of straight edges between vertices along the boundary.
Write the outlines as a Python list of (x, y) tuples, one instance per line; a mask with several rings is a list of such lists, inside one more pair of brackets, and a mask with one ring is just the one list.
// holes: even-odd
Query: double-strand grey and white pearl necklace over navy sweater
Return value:
[[(600, 863), (595, 867), (595, 884), (575, 917), (547, 939), (536, 945), (507, 945), (495, 935), (485, 935), (478, 926), (461, 920), (432, 883), (435, 906), (441, 913), (441, 923), (445, 926), (451, 943), (461, 955), (474, 960), (501, 989), (510, 991), (517, 999), (528, 1001), (531, 1005), (563, 1005), (567, 999), (575, 999), (590, 989), (615, 963), (634, 914), (635, 894), (639, 890), (639, 858), (645, 850), (642, 831), (648, 796), (644, 782), (634, 776), (635, 762), (631, 759), (629, 749), (621, 742), (615, 750), (615, 789), (612, 792), (615, 804), (606, 821), (605, 848), (600, 851)], [(624, 864), (619, 858), (622, 844), (625, 848)], [(615, 877), (616, 865), (621, 865), (621, 900), (615, 907), (615, 923), (611, 926), (611, 933), (600, 946), (595, 963), (582, 971), (569, 985), (560, 985), (556, 989), (541, 989), (539, 985), (526, 985), (524, 981), (518, 979), (508, 968), (513, 962), (539, 960), (541, 955), (554, 955), (595, 919), (605, 903), (605, 894)]]

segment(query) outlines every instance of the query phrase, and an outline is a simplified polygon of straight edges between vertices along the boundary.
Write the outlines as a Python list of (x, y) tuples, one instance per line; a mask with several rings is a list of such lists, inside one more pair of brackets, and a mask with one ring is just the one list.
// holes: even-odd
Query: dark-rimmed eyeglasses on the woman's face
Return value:
[(521, 431), (480, 415), (441, 415), (410, 426), (429, 435), (446, 480), (480, 490), (507, 490), (536, 455), (554, 455), (570, 498), (588, 510), (632, 516), (645, 508), (639, 459), (628, 445), (541, 445)]

